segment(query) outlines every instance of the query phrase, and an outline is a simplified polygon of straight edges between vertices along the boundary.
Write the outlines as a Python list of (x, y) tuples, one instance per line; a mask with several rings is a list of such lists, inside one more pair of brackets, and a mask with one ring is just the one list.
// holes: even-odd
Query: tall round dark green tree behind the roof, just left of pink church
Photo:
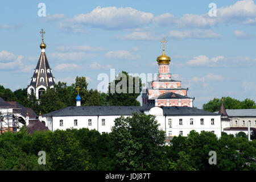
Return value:
[(133, 77), (122, 71), (113, 82), (109, 83), (107, 100), (112, 106), (140, 106), (137, 97), (141, 94), (141, 90), (141, 78)]

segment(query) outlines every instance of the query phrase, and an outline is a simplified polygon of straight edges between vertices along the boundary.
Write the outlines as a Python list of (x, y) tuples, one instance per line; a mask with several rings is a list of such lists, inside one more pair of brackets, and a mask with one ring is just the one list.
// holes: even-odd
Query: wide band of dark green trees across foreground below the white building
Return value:
[[(68, 129), (36, 132), (23, 128), (0, 135), (0, 170), (153, 170), (204, 171), (256, 169), (256, 140), (246, 134), (191, 131), (188, 137), (174, 137), (165, 145), (164, 131), (155, 117), (133, 114), (119, 117), (111, 133)], [(38, 152), (46, 152), (46, 165), (38, 164)], [(217, 164), (209, 164), (209, 152), (216, 152)]]

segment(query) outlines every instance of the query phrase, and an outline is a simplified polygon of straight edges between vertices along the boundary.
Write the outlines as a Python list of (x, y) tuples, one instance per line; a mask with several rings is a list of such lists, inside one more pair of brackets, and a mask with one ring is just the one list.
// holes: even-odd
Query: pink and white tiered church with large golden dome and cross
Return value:
[(167, 43), (163, 38), (163, 53), (158, 56), (158, 78), (148, 82), (147, 89), (142, 92), (142, 104), (154, 106), (188, 106), (193, 107), (193, 100), (187, 96), (188, 88), (181, 88), (181, 81), (172, 80), (170, 73), (171, 58), (164, 53), (164, 44)]

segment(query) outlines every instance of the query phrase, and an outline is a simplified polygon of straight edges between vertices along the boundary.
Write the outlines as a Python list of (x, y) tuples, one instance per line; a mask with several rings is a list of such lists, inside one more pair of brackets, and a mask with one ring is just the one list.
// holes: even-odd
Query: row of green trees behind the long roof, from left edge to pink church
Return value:
[[(127, 76), (127, 91), (129, 90), (129, 75), (127, 72), (122, 72)], [(131, 77), (131, 76), (130, 76)], [(135, 77), (133, 77), (135, 80)], [(120, 80), (114, 80), (117, 84)], [(110, 84), (109, 84), (110, 85)], [(82, 106), (100, 106), (100, 105), (116, 105), (116, 106), (139, 106), (137, 101), (142, 83), (139, 79), (139, 93), (101, 93), (97, 89), (88, 89), (88, 82), (85, 77), (76, 77), (75, 83), (68, 86), (65, 82), (58, 82), (53, 89), (47, 88), (39, 100), (34, 94), (27, 95), (27, 89), (18, 89), (12, 92), (8, 88), (0, 85), (0, 97), (5, 101), (17, 101), (25, 107), (31, 107), (36, 114), (40, 111), (42, 114), (49, 113), (67, 106), (76, 106), (77, 86), (79, 86), (79, 95), (81, 97)], [(133, 85), (135, 87), (135, 84)], [(133, 88), (135, 90), (135, 88)], [(110, 91), (110, 86), (109, 86)]]

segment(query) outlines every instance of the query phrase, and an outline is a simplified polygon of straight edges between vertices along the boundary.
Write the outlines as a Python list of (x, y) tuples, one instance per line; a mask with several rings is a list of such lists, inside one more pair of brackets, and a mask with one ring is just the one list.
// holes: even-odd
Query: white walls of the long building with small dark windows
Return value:
[[(159, 108), (159, 107), (157, 107)], [(159, 108), (160, 109), (160, 108)], [(155, 111), (160, 111), (159, 109), (155, 109)], [(150, 113), (150, 112), (149, 112)], [(152, 112), (151, 112), (152, 113)], [(166, 135), (168, 137), (168, 132), (172, 131), (173, 136), (179, 136), (179, 132), (183, 131), (183, 136), (187, 136), (191, 130), (195, 130), (197, 132), (201, 131), (214, 131), (214, 134), (217, 137), (221, 137), (221, 120), (220, 115), (203, 115), (203, 116), (167, 116), (165, 119), (164, 115), (159, 113), (156, 114), (156, 120), (160, 124), (159, 130), (166, 131)], [(81, 129), (86, 127), (90, 130), (95, 129), (100, 133), (110, 133), (112, 127), (114, 126), (115, 118), (120, 117), (119, 115), (111, 115), (111, 116), (77, 116), (77, 117), (53, 117), (53, 122), (51, 122), (51, 118), (43, 118), (43, 121), (47, 121), (46, 125), (49, 130), (66, 130), (66, 129)], [(127, 116), (125, 116), (127, 117)], [(172, 119), (172, 127), (170, 128), (168, 125), (168, 119)], [(190, 125), (190, 119), (193, 118), (193, 125)], [(204, 118), (204, 125), (200, 124), (200, 119)], [(211, 119), (214, 119), (214, 125), (211, 125)], [(60, 126), (60, 119), (63, 119), (63, 126)], [(77, 119), (77, 126), (74, 126), (74, 120)], [(88, 119), (92, 119), (92, 126), (88, 126)], [(102, 126), (102, 119), (105, 119), (105, 126)], [(183, 120), (183, 125), (179, 125), (179, 119)], [(53, 128), (52, 128), (53, 126)]]

